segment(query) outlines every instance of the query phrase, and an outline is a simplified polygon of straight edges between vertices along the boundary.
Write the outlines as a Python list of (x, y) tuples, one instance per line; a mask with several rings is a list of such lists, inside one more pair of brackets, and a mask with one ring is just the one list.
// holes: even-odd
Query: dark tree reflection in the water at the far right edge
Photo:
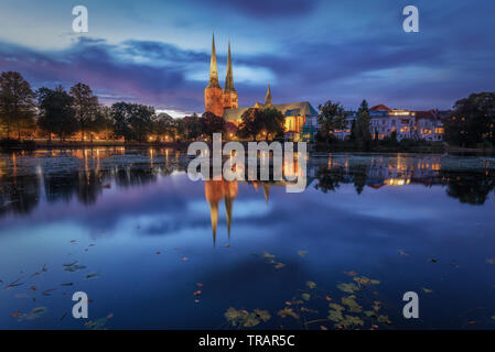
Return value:
[(492, 172), (470, 172), (444, 173), (442, 172), (445, 184), (446, 195), (459, 199), (462, 204), (484, 205), (488, 194), (495, 189), (495, 173)]

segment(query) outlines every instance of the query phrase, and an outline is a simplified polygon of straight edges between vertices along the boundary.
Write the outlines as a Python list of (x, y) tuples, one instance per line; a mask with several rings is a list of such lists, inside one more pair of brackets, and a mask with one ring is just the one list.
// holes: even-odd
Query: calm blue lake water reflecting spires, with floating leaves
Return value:
[(495, 328), (494, 158), (311, 157), (302, 194), (193, 183), (186, 165), (0, 154), (0, 328)]

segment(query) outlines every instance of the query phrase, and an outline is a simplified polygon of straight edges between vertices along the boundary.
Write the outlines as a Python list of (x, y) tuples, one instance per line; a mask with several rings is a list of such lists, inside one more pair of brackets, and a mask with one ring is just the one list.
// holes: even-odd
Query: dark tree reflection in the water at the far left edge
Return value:
[(36, 207), (40, 200), (36, 175), (6, 177), (0, 183), (0, 216), (8, 212), (24, 215)]

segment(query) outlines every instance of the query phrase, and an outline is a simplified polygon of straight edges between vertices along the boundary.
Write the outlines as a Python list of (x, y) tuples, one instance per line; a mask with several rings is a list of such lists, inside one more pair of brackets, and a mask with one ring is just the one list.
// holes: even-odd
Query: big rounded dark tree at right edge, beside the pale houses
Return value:
[(495, 92), (472, 94), (458, 100), (445, 120), (445, 140), (462, 146), (495, 144)]

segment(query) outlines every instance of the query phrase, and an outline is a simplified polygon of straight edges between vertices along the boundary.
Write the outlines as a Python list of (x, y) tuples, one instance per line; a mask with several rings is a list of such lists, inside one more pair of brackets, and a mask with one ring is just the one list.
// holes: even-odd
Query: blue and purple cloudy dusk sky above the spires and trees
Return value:
[[(406, 33), (406, 6), (419, 32)], [(88, 10), (74, 33), (73, 8)], [(495, 91), (493, 0), (2, 0), (0, 72), (34, 89), (82, 81), (104, 103), (174, 117), (204, 111), (212, 33), (224, 86), (228, 41), (239, 107), (326, 100), (450, 109)]]

